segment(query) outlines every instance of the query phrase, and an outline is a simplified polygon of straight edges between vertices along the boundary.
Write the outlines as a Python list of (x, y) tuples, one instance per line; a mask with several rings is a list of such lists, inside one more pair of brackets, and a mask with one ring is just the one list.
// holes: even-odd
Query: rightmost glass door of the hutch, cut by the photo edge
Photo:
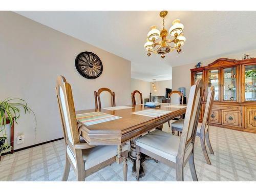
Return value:
[(256, 101), (256, 65), (244, 66), (244, 100)]

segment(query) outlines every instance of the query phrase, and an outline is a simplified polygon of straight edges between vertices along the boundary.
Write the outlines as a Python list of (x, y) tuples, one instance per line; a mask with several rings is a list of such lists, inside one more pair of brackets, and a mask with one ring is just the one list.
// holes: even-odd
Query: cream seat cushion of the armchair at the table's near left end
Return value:
[[(128, 145), (122, 146), (122, 152), (127, 151)], [(82, 150), (85, 169), (89, 169), (117, 155), (117, 145), (99, 145)]]

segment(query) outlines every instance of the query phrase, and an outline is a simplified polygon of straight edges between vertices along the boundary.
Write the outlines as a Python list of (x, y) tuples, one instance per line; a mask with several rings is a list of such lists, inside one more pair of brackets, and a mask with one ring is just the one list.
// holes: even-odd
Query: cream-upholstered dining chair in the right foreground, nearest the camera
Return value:
[(198, 181), (194, 163), (194, 143), (202, 98), (203, 80), (191, 87), (181, 137), (156, 130), (136, 139), (136, 179), (139, 180), (140, 153), (176, 169), (176, 180), (184, 181), (184, 166), (189, 162), (193, 181)]

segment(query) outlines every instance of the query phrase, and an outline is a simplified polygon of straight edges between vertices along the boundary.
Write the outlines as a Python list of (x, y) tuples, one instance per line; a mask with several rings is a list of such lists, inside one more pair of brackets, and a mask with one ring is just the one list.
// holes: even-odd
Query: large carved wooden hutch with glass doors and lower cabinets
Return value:
[(208, 66), (191, 69), (191, 85), (202, 78), (205, 84), (200, 120), (206, 96), (215, 87), (210, 125), (256, 133), (256, 58), (220, 58)]

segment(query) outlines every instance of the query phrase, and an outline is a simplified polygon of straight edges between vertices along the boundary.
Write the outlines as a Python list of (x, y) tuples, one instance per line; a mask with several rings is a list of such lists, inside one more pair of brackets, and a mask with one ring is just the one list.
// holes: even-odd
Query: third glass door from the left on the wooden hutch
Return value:
[(223, 69), (223, 101), (237, 101), (237, 68)]

